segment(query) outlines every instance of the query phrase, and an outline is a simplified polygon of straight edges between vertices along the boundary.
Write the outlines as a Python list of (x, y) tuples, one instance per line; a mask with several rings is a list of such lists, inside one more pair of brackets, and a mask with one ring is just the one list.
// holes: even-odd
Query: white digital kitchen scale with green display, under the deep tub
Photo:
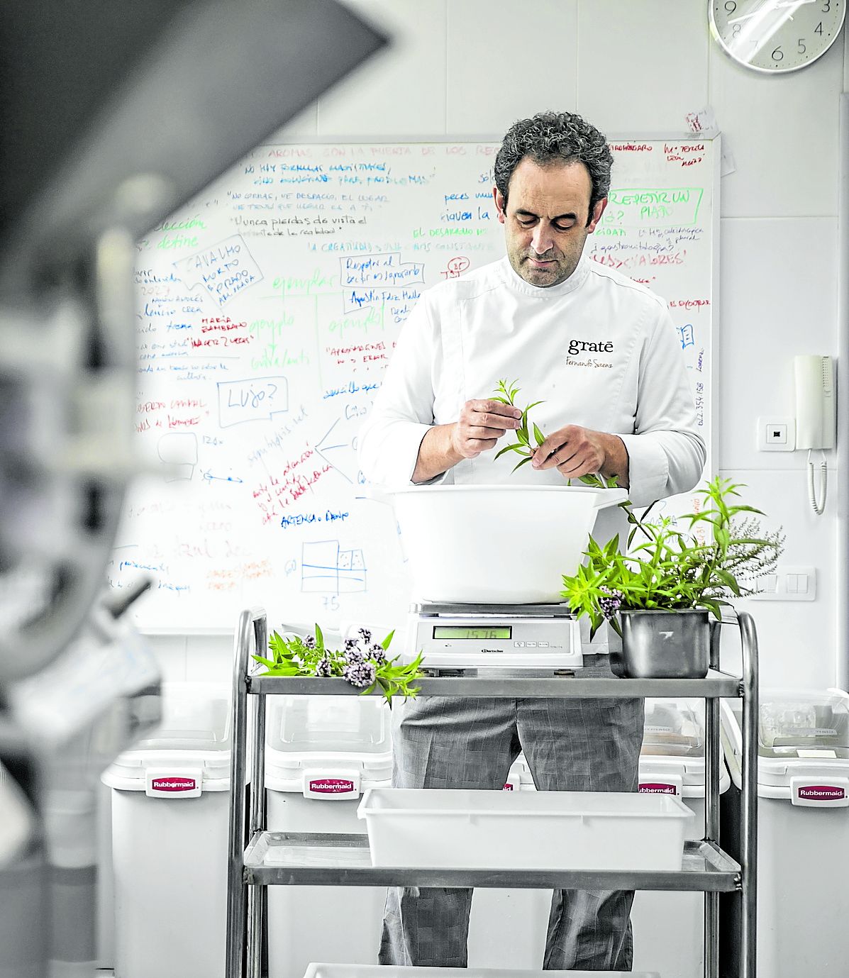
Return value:
[(568, 604), (413, 604), (407, 655), (425, 669), (580, 669), (580, 627)]

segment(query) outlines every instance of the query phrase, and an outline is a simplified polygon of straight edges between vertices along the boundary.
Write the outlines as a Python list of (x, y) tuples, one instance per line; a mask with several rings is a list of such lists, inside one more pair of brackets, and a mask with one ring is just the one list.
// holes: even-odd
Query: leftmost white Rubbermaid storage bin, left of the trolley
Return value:
[(224, 976), (230, 695), (163, 684), (161, 725), (103, 775), (116, 978)]

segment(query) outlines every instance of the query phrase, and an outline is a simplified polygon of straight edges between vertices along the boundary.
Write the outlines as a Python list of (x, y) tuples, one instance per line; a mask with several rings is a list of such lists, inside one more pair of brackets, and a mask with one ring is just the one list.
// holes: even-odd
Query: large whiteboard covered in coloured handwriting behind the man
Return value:
[[(710, 448), (718, 142), (610, 146), (585, 253), (669, 302)], [(362, 498), (357, 432), (423, 289), (504, 254), (497, 150), (259, 147), (137, 243), (144, 474), (109, 576), (154, 575), (140, 628), (231, 630), (253, 604), (273, 621), (403, 619), (397, 525)]]

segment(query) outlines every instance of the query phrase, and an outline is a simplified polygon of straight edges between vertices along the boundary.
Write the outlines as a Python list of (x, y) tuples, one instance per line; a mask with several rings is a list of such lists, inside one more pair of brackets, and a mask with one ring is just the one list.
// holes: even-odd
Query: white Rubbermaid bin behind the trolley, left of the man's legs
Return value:
[[(391, 713), (377, 696), (272, 696), (265, 786), (272, 831), (363, 833), (361, 792), (392, 778)], [(272, 850), (275, 858), (278, 854)], [(319, 858), (311, 849), (303, 855)], [(368, 853), (359, 854), (368, 865)], [(329, 961), (376, 963), (384, 887), (270, 886), (268, 975), (303, 974), (317, 948)], [(332, 920), (317, 931), (304, 919)]]

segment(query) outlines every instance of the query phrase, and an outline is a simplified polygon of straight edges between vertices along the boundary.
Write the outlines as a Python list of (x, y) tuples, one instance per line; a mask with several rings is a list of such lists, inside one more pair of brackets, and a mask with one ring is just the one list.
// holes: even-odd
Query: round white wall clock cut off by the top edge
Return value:
[(740, 65), (795, 71), (837, 39), (845, 0), (709, 0), (710, 29)]

